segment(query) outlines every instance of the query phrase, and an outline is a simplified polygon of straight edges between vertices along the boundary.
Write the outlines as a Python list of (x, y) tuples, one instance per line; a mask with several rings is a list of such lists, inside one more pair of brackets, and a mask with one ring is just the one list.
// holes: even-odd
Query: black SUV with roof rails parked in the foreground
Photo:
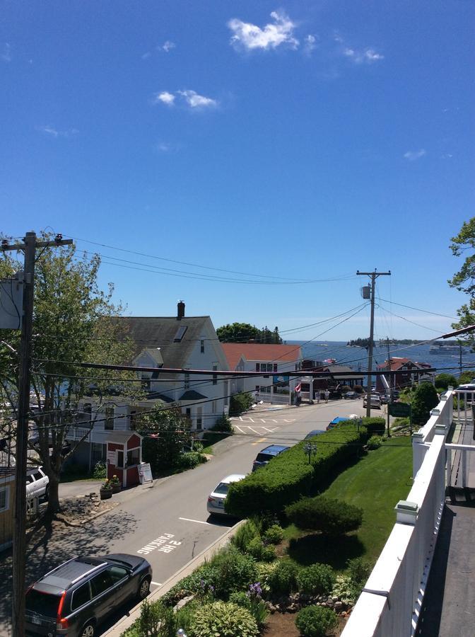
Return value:
[(148, 595), (152, 567), (134, 555), (79, 557), (49, 571), (26, 593), (27, 636), (93, 637), (127, 599)]

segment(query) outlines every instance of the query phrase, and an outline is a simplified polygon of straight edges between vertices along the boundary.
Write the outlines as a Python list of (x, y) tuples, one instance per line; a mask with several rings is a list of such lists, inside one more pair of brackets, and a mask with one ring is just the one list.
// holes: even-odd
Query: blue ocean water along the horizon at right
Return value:
[[(355, 348), (346, 345), (343, 341), (322, 340), (307, 343), (303, 340), (287, 340), (291, 345), (301, 345), (305, 358), (323, 361), (334, 358), (336, 365), (348, 365), (355, 370), (368, 369), (368, 352), (364, 348)], [(430, 343), (424, 345), (389, 345), (389, 354), (392, 357), (406, 357), (414, 362), (428, 363), (438, 372), (459, 375), (459, 354), (438, 354), (430, 352)], [(377, 343), (373, 348), (373, 369), (376, 365), (382, 365), (387, 360), (387, 345), (380, 347)], [(469, 352), (468, 348), (462, 352), (462, 371), (475, 370), (475, 352)], [(475, 377), (475, 374), (474, 374)]]

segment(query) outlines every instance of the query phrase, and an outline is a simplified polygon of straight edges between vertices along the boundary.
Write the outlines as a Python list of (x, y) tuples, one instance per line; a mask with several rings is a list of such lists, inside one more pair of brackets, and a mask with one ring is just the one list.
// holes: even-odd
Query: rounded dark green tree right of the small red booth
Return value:
[(145, 436), (143, 459), (150, 462), (154, 473), (177, 466), (184, 445), (189, 445), (191, 440), (189, 420), (180, 408), (164, 409), (156, 405), (143, 413), (137, 429)]

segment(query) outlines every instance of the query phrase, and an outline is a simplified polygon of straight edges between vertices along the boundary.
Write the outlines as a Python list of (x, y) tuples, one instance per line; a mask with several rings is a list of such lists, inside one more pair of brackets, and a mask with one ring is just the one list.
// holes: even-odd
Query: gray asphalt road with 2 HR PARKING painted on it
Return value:
[[(365, 415), (363, 401), (332, 401), (313, 406), (262, 411), (259, 408), (234, 419), (235, 435), (219, 442), (211, 461), (192, 471), (163, 478), (153, 487), (140, 486), (121, 494), (121, 504), (81, 529), (64, 534), (44, 534), (28, 546), (27, 583), (78, 554), (134, 553), (153, 567), (152, 590), (220, 537), (235, 520), (209, 517), (206, 499), (221, 478), (247, 474), (257, 453), (267, 444), (292, 445), (311, 430), (324, 430), (335, 416)], [(374, 410), (374, 415), (383, 415)], [(61, 496), (95, 490), (93, 483), (61, 486)], [(1, 559), (3, 558), (3, 559)], [(5, 573), (0, 583), (0, 634), (8, 634), (8, 592), (11, 588), (9, 557), (0, 557)], [(131, 607), (133, 604), (130, 604)], [(125, 607), (127, 610), (127, 607)], [(117, 621), (117, 613), (102, 630)], [(3, 630), (6, 629), (6, 630)]]

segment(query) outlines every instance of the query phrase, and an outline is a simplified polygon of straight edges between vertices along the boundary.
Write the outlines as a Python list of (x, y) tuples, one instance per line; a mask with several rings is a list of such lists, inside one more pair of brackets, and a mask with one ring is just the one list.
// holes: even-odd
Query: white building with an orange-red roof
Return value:
[(223, 343), (230, 369), (236, 372), (265, 372), (262, 376), (237, 377), (232, 392), (252, 391), (257, 399), (268, 402), (288, 402), (291, 391), (299, 384), (296, 372), (302, 363), (300, 345), (274, 345), (266, 343)]

